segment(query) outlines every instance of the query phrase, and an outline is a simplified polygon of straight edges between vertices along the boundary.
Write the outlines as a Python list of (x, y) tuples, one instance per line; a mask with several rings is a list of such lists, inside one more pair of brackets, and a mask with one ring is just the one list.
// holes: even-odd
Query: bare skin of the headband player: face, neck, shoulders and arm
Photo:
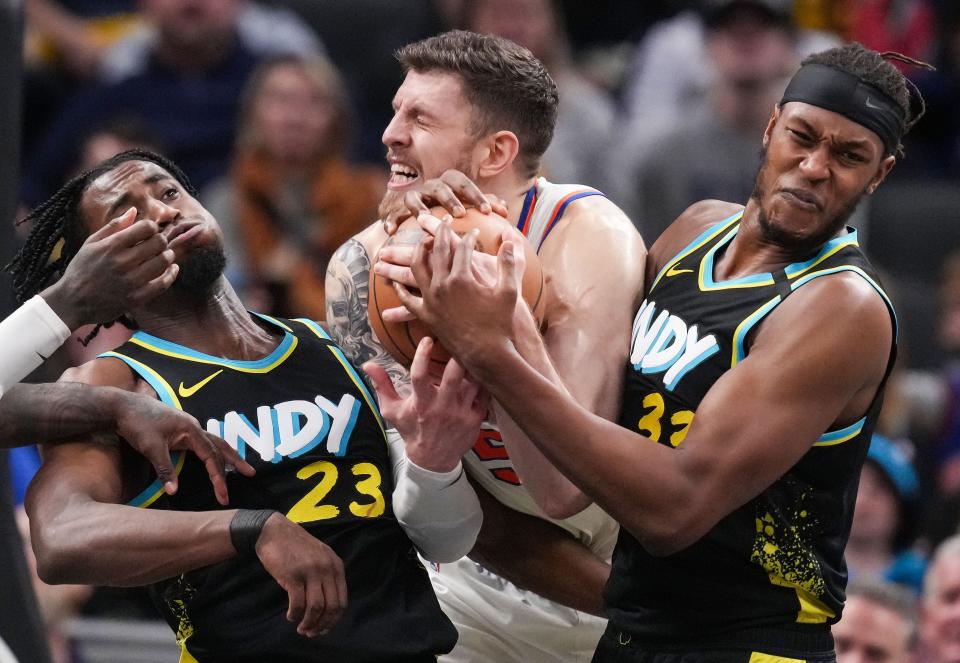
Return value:
[[(799, 102), (773, 113), (764, 145), (759, 195), (718, 260), (717, 279), (772, 272), (808, 255), (840, 231), (842, 212), (872, 192), (895, 161), (869, 130)], [(648, 274), (731, 209), (717, 201), (691, 207), (652, 248)], [(817, 279), (758, 325), (746, 359), (710, 389), (683, 445), (668, 449), (590, 413), (538, 370), (546, 350), (533, 325), (514, 315), (509, 243), (493, 288), (466, 268), (469, 255), (460, 254), (469, 254), (469, 242), (454, 246), (444, 229), (429, 254), (422, 247), (413, 270), (423, 297), (405, 294), (407, 308), (537, 447), (653, 554), (683, 550), (782, 476), (823, 431), (862, 417), (890, 360), (890, 315), (869, 284), (846, 273)]]

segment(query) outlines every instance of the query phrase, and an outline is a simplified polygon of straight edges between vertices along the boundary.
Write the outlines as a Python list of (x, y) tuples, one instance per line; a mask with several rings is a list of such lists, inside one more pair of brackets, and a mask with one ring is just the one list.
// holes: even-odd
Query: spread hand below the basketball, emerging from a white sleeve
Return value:
[(439, 384), (430, 374), (433, 339), (424, 337), (410, 365), (411, 391), (401, 397), (382, 366), (367, 362), (380, 411), (403, 438), (407, 458), (433, 472), (449, 472), (473, 446), (487, 415), (489, 397), (455, 360), (447, 362)]

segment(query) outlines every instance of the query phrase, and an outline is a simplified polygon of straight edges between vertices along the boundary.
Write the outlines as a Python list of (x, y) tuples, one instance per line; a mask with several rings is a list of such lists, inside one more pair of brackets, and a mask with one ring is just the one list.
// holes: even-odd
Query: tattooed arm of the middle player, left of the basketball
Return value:
[(410, 376), (383, 349), (367, 319), (370, 256), (355, 239), (337, 249), (327, 265), (327, 325), (330, 336), (356, 366), (374, 361), (387, 371), (398, 390), (406, 389)]

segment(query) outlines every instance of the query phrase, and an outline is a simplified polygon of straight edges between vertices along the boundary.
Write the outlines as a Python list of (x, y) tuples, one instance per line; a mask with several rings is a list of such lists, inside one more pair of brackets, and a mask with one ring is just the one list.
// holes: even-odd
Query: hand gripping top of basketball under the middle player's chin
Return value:
[(476, 207), (484, 214), (491, 211), (507, 215), (507, 204), (493, 194), (485, 194), (473, 180), (459, 170), (446, 170), (437, 178), (426, 180), (418, 188), (403, 196), (403, 203), (391, 208), (381, 208), (380, 218), (388, 235), (397, 231), (404, 220), (429, 212), (431, 206), (440, 205), (453, 216), (467, 213), (465, 205)]

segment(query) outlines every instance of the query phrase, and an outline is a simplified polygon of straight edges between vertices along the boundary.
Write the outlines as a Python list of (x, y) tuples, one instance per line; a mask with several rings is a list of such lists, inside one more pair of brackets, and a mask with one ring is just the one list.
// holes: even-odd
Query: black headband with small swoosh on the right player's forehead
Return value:
[(780, 105), (788, 101), (819, 106), (863, 125), (880, 137), (887, 154), (900, 145), (903, 110), (884, 92), (845, 71), (822, 64), (800, 67)]

